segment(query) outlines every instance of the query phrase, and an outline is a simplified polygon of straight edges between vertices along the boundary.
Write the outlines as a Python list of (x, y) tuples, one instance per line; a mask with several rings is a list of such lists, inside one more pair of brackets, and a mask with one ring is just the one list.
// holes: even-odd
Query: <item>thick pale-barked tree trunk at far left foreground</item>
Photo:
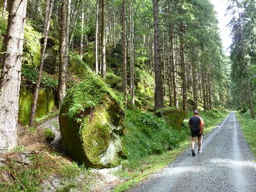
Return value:
[(26, 0), (8, 1), (9, 16), (0, 74), (0, 152), (10, 150), (17, 144), (16, 126), (26, 9)]

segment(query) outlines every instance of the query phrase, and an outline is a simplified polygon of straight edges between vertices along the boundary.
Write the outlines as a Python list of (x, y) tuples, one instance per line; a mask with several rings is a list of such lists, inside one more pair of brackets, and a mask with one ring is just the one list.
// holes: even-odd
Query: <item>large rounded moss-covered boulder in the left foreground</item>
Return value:
[(63, 99), (59, 125), (67, 154), (90, 168), (119, 164), (125, 111), (118, 97), (93, 73)]

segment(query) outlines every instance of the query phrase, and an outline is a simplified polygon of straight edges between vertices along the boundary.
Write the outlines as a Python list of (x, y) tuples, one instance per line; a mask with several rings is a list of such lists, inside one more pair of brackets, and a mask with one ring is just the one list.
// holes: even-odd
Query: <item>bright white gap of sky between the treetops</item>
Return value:
[(227, 23), (230, 21), (230, 16), (226, 14), (227, 0), (211, 0), (211, 3), (215, 6), (215, 10), (218, 13), (217, 18), (219, 20), (219, 29), (221, 30), (221, 38), (223, 42), (224, 51), (229, 55), (229, 48), (231, 44), (230, 29), (227, 27)]

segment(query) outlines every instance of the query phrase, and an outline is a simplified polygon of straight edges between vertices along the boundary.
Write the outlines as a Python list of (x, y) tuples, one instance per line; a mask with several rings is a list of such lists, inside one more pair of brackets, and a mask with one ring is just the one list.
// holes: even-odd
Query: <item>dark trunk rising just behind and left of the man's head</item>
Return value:
[(184, 29), (180, 26), (180, 66), (182, 76), (182, 108), (187, 111), (187, 79), (186, 79), (186, 63), (185, 63), (185, 50), (184, 50)]

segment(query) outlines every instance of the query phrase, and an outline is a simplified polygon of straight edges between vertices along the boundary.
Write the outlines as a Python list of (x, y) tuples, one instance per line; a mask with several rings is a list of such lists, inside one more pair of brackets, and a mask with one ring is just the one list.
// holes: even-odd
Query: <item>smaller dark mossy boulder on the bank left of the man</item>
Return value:
[(182, 109), (170, 107), (158, 109), (157, 115), (168, 122), (171, 127), (177, 130), (182, 128), (182, 122), (186, 118), (186, 112), (184, 112)]

